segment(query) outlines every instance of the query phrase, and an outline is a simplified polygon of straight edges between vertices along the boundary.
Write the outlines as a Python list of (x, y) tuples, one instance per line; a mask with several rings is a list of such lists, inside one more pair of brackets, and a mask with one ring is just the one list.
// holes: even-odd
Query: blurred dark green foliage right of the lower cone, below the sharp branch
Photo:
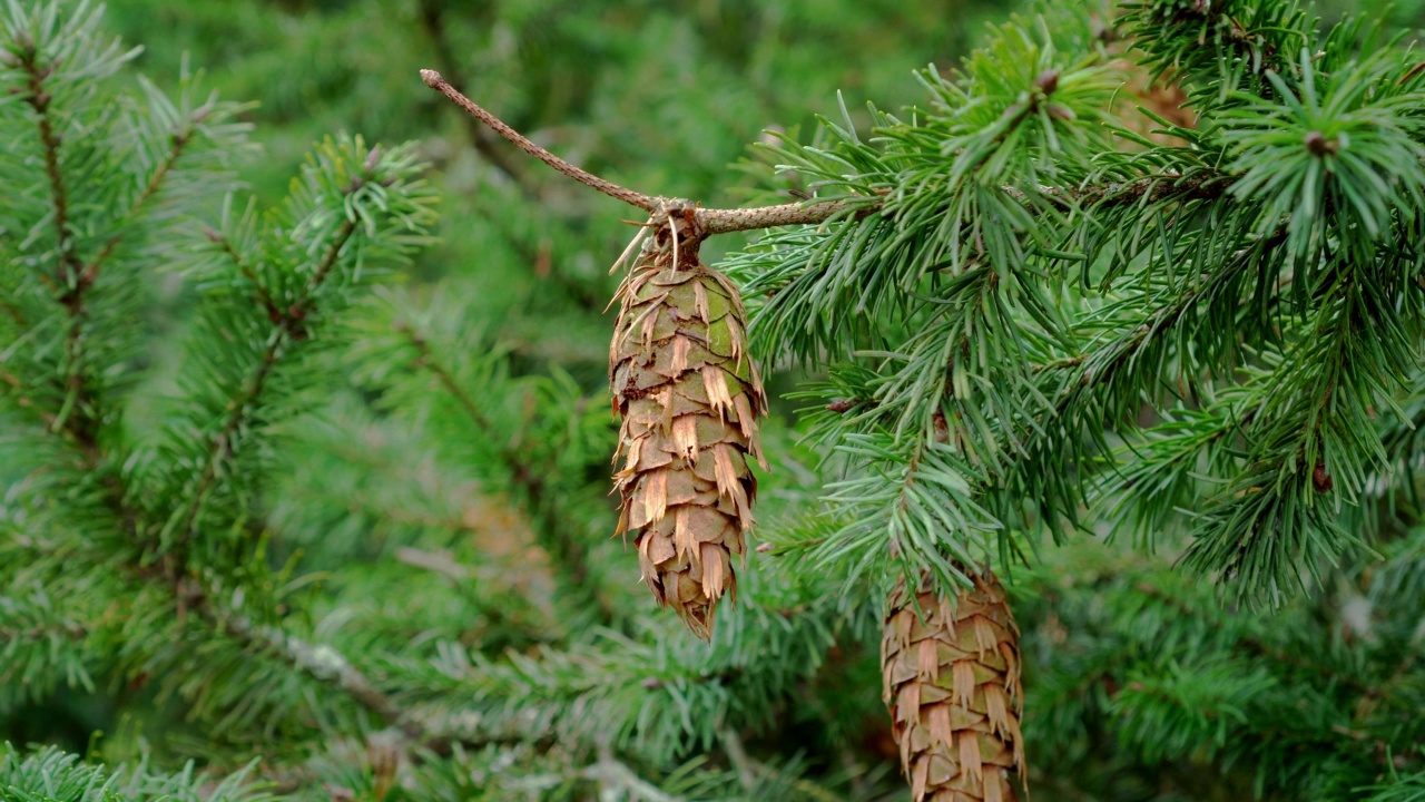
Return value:
[[(1102, 761), (1107, 798), (1137, 798), (1163, 771), (1204, 798), (1177, 766), (1210, 763), (1235, 768), (1240, 798), (1357, 798), (1391, 759), (1411, 765), (1422, 735), (1409, 712), (1422, 542), (1394, 542), (1384, 564), (1273, 618), (1224, 611), (1163, 565), (1070, 549), (1072, 568), (1036, 574), (1019, 606), (1049, 622), (1025, 642), (1040, 769)], [(1090, 758), (1097, 728), (1116, 743)]]

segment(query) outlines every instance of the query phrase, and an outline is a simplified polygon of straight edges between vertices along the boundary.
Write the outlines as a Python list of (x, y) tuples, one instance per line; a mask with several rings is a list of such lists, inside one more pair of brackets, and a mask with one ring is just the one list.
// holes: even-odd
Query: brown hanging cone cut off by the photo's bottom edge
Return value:
[(955, 599), (942, 599), (929, 575), (915, 599), (905, 579), (891, 592), (882, 698), (915, 802), (1019, 799), (1010, 781), (1025, 766), (1019, 665), (1019, 628), (992, 574)]

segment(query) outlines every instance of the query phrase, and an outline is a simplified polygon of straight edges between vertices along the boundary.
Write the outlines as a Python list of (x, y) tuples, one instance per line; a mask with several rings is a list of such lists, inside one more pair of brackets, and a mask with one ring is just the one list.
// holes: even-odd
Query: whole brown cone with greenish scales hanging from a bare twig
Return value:
[(751, 454), (767, 410), (747, 352), (737, 288), (698, 261), (695, 208), (667, 204), (618, 288), (608, 350), (614, 410), (623, 417), (614, 474), (618, 532), (636, 532), (643, 581), (700, 638), (712, 635), (724, 592), (737, 595), (757, 479)]

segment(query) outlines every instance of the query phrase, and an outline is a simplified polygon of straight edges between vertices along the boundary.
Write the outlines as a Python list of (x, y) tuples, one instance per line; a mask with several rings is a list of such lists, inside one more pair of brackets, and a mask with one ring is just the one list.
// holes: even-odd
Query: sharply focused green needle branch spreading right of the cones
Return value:
[[(1106, 103), (1121, 61), (1056, 21), (996, 31), (950, 83), (929, 73), (929, 110), (874, 111), (871, 140), (826, 121), (824, 144), (775, 151), (848, 205), (731, 261), (770, 295), (754, 342), (856, 377), (824, 397), (851, 408), (821, 437), (923, 487), (848, 479), (828, 501), (851, 524), (808, 545), (822, 559), (876, 577), (898, 552), (948, 577), (942, 554), (1062, 539), (1114, 488), (1140, 521), (1194, 509), (1184, 562), (1243, 599), (1280, 602), (1365, 547), (1337, 517), (1388, 467), (1377, 421), (1419, 341), (1421, 73), (1375, 29), (1280, 3), (1126, 10), (1149, 68), (1191, 90), (1181, 141), (1136, 133)], [(922, 492), (949, 518), (911, 514)]]

